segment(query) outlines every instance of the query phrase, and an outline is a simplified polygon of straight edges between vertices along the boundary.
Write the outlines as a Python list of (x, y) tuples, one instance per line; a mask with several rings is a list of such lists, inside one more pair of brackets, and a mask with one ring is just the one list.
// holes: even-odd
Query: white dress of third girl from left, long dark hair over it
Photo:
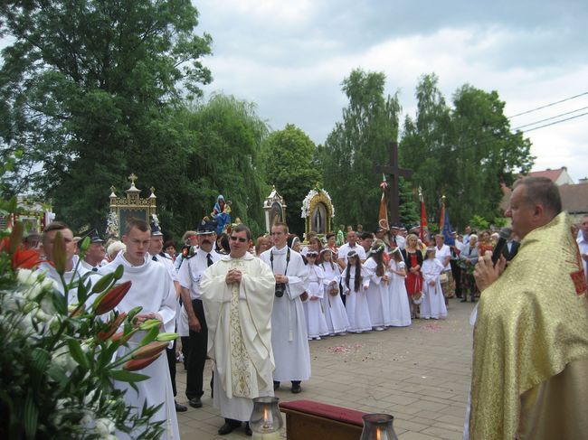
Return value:
[[(347, 271), (349, 271), (349, 286), (346, 285)], [(365, 295), (366, 285), (369, 281), (363, 268), (361, 270), (361, 276), (362, 284), (359, 286), (359, 291), (356, 292), (356, 267), (346, 267), (341, 274), (343, 293), (346, 295), (345, 308), (347, 319), (349, 320), (349, 332), (359, 333), (372, 330), (372, 320), (370, 318), (369, 306), (367, 305), (367, 296)]]

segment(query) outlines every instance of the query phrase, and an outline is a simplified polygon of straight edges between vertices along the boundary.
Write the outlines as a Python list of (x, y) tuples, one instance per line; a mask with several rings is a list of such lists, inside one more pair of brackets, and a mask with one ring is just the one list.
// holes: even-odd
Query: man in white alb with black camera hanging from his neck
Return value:
[(271, 314), (271, 346), (276, 361), (274, 389), (290, 380), (291, 391), (299, 393), (300, 382), (310, 379), (307, 323), (300, 295), (306, 294), (308, 270), (298, 252), (286, 246), (288, 226), (275, 223), (271, 228), (273, 247), (260, 256), (276, 279)]

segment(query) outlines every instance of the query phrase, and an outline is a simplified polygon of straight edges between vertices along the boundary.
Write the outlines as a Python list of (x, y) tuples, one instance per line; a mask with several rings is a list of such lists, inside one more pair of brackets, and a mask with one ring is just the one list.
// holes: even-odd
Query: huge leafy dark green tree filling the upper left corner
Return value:
[[(185, 0), (8, 1), (0, 33), (14, 37), (0, 69), (4, 188), (52, 198), (60, 219), (103, 230), (111, 184), (138, 174), (169, 195), (185, 160), (175, 106), (211, 80)], [(169, 191), (168, 191), (169, 190)]]

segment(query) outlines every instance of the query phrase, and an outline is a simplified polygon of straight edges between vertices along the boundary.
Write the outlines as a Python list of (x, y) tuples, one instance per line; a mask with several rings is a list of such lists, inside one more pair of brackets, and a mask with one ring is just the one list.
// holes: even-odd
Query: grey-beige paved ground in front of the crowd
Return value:
[[(451, 299), (446, 320), (415, 320), (406, 328), (309, 342), (312, 379), (302, 383), (298, 395), (289, 392), (289, 383), (282, 383), (276, 396), (281, 401), (309, 399), (392, 414), (400, 440), (461, 439), (470, 379), (472, 306)], [(177, 366), (177, 400), (187, 404), (185, 371)], [(205, 384), (210, 372), (207, 365)], [(205, 390), (203, 403), (202, 408), (188, 407), (178, 414), (182, 438), (251, 438), (243, 429), (218, 435), (223, 418), (213, 408), (210, 389)]]

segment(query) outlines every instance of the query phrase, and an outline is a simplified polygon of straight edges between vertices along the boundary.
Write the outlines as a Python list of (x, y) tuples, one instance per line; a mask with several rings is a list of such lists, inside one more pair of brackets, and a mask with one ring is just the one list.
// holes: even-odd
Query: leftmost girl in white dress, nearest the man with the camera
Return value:
[(321, 336), (326, 336), (329, 332), (322, 304), (325, 272), (316, 264), (317, 258), (316, 250), (308, 250), (308, 301), (306, 302), (308, 340), (318, 341)]

